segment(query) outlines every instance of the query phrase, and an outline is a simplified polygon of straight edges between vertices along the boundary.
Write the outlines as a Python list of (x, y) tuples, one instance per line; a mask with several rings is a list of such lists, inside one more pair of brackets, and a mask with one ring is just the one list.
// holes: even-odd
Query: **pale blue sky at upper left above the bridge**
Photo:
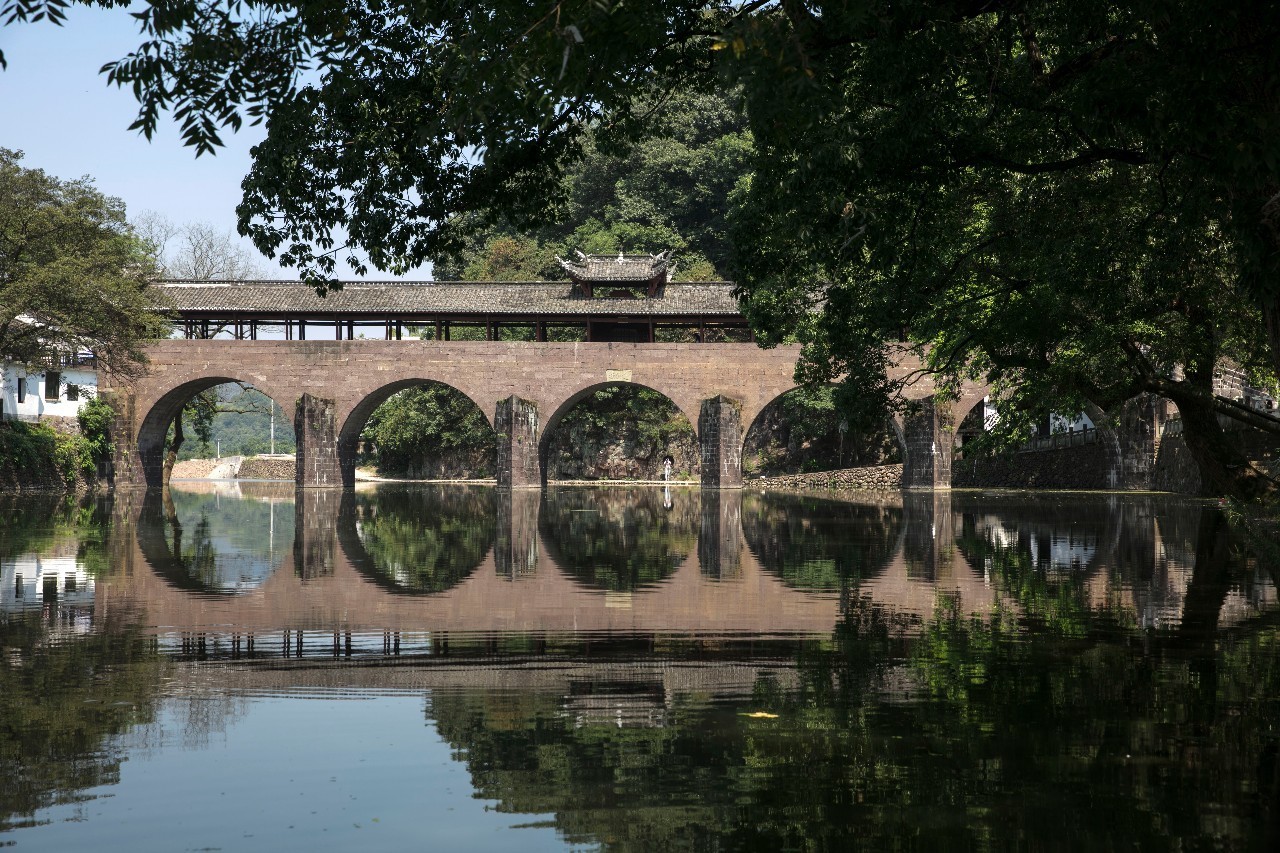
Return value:
[[(59, 178), (92, 177), (102, 192), (123, 199), (131, 215), (155, 210), (178, 224), (207, 222), (234, 231), (239, 183), (262, 128), (228, 131), (225, 149), (198, 159), (170, 120), (151, 142), (127, 129), (137, 102), (128, 91), (108, 86), (99, 68), (140, 41), (137, 22), (123, 9), (74, 6), (63, 27), (0, 27), (0, 49), (9, 61), (0, 72), (0, 146), (23, 151), (28, 168)], [(265, 259), (262, 265), (280, 278), (297, 274), (276, 273), (275, 263)], [(339, 275), (347, 277), (346, 270)], [(375, 272), (371, 278), (387, 277)]]

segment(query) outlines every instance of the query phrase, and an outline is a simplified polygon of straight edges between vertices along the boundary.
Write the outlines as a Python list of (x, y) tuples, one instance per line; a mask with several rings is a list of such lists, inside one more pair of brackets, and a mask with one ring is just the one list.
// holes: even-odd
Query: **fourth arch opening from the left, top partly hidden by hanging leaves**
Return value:
[(892, 420), (859, 412), (835, 386), (792, 388), (776, 397), (742, 442), (742, 473), (754, 476), (901, 461), (902, 442)]

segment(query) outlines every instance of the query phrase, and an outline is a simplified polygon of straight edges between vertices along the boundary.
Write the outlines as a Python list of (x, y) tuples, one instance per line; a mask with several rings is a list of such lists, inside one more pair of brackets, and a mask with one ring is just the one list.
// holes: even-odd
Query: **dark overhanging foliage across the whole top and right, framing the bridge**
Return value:
[[(8, 0), (6, 18), (68, 0)], [(402, 272), (495, 209), (535, 233), (591, 146), (672, 93), (737, 91), (754, 175), (735, 274), (801, 374), (888, 396), (883, 343), (987, 371), (1014, 409), (1172, 398), (1235, 488), (1230, 357), (1280, 375), (1280, 9), (1245, 0), (154, 0), (104, 70), (137, 128), (266, 120), (241, 229), (321, 289)], [(618, 182), (614, 182), (614, 187)], [(590, 199), (590, 196), (586, 196)], [(346, 234), (342, 242), (335, 234)], [(518, 266), (529, 248), (506, 246)], [(536, 246), (534, 247), (536, 248)], [(506, 263), (506, 261), (504, 261)], [(1007, 421), (1012, 423), (1012, 421)], [(1212, 470), (1210, 470), (1212, 469)]]

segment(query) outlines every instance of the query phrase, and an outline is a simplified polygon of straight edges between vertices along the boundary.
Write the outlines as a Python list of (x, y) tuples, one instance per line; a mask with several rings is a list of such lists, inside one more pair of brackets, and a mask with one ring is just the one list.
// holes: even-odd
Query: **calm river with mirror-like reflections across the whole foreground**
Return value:
[(0, 500), (0, 847), (1276, 850), (1276, 581), (1149, 496)]

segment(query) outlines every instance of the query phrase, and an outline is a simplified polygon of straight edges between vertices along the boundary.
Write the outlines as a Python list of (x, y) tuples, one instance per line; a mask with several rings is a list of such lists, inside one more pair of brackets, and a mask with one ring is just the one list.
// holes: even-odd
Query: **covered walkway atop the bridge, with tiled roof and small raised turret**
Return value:
[(669, 282), (669, 254), (582, 255), (567, 282), (170, 280), (155, 287), (187, 338), (748, 342), (731, 282)]

